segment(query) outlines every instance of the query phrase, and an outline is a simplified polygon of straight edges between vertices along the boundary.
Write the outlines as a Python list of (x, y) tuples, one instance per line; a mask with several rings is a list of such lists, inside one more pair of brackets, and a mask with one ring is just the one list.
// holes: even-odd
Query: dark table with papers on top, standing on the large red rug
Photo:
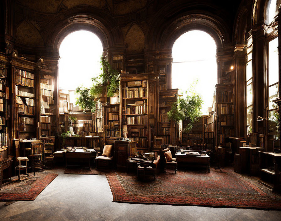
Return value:
[[(178, 166), (183, 166), (183, 167), (203, 166), (208, 170), (208, 172), (210, 172), (210, 157), (208, 156), (208, 154), (193, 156), (193, 155), (188, 155), (187, 152), (190, 151), (185, 151), (183, 154), (180, 152), (176, 153)], [(199, 151), (193, 150), (192, 152), (199, 152)]]

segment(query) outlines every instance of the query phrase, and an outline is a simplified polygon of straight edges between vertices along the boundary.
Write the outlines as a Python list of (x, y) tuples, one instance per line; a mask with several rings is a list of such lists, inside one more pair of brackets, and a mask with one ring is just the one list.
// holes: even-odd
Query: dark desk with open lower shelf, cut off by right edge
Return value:
[(260, 183), (274, 191), (281, 190), (281, 154), (259, 151)]

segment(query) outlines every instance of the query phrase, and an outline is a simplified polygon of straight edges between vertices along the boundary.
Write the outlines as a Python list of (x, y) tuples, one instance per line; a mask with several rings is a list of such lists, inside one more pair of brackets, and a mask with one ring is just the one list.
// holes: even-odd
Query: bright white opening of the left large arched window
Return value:
[(74, 90), (80, 85), (90, 87), (91, 78), (101, 72), (103, 46), (92, 32), (75, 31), (61, 42), (59, 53), (59, 88), (69, 91), (70, 103), (75, 105)]

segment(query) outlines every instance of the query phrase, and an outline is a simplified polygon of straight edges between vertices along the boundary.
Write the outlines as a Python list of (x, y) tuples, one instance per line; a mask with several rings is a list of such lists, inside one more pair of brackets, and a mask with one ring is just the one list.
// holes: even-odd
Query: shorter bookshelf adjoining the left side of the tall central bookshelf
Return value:
[(104, 105), (105, 137), (120, 137), (119, 104)]

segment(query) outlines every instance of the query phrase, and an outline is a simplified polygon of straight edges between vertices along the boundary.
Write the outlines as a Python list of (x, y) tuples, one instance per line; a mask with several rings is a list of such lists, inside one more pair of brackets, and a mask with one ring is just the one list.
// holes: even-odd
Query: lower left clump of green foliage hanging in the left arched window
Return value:
[(76, 88), (75, 93), (78, 94), (75, 104), (79, 105), (84, 112), (85, 110), (91, 110), (94, 113), (97, 102), (95, 101), (95, 97), (89, 93), (89, 90), (79, 86)]

